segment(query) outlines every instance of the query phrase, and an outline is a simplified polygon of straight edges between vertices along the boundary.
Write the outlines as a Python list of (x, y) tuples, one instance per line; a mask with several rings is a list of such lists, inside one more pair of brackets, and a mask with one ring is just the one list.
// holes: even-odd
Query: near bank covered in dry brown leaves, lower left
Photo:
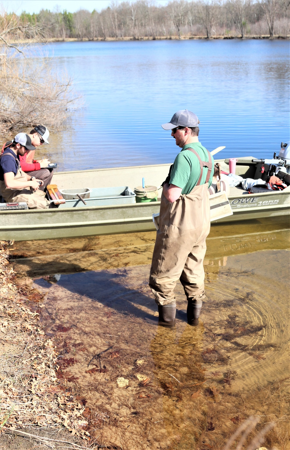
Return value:
[(19, 448), (23, 438), (30, 438), (27, 449), (36, 443), (47, 448), (50, 441), (50, 448), (59, 448), (61, 441), (86, 448), (90, 411), (77, 397), (78, 385), (72, 388), (62, 371), (55, 339), (43, 330), (44, 296), (31, 278), (15, 276), (12, 247), (13, 242), (0, 241), (1, 448)]

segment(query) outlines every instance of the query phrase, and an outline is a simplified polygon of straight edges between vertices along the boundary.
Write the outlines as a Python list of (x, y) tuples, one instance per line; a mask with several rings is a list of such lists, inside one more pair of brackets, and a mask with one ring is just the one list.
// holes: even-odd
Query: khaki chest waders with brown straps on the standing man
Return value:
[[(159, 319), (162, 311), (165, 314), (161, 317), (164, 320), (159, 322), (166, 322), (170, 316), (171, 325), (175, 317), (174, 313), (172, 318), (172, 310), (176, 310), (174, 288), (177, 280), (180, 280), (190, 303), (201, 308), (204, 297), (203, 259), (211, 226), (208, 180), (212, 162), (209, 152), (209, 162), (203, 162), (197, 152), (190, 150), (198, 157), (201, 174), (192, 191), (180, 195), (173, 203), (162, 193), (159, 229), (149, 277), (149, 286), (160, 310)], [(207, 167), (207, 177), (205, 184), (200, 184), (203, 167)]]

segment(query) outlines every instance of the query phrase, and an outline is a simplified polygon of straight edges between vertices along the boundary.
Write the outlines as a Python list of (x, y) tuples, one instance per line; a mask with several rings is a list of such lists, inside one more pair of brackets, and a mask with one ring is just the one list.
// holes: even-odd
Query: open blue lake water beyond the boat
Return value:
[(58, 170), (172, 162), (160, 124), (189, 109), (219, 157), (272, 157), (289, 140), (289, 42), (64, 42), (44, 47), (74, 77), (83, 105), (45, 152)]

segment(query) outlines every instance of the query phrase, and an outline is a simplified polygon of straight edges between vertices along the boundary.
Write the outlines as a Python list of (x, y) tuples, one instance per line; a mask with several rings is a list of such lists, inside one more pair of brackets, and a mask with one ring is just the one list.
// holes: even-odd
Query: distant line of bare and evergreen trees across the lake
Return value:
[(175, 0), (158, 6), (152, 0), (112, 1), (100, 13), (42, 9), (19, 16), (47, 38), (156, 39), (204, 36), (289, 37), (290, 0)]

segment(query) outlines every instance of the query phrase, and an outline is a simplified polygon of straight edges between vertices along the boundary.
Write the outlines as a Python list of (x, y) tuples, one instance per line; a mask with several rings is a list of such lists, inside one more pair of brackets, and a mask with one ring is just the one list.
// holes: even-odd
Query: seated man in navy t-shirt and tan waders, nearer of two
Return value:
[(26, 202), (32, 209), (46, 209), (49, 201), (40, 190), (42, 180), (22, 171), (19, 157), (35, 147), (25, 133), (18, 133), (0, 157), (0, 195), (5, 202)]

